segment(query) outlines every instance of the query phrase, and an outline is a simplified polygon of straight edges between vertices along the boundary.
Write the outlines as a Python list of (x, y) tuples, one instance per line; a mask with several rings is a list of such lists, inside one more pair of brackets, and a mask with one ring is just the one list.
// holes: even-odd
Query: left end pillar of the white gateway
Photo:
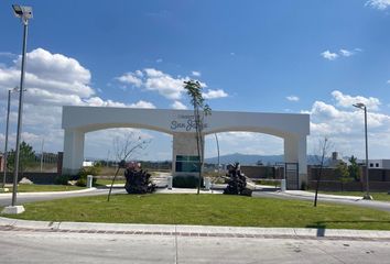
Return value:
[(84, 161), (84, 132), (65, 129), (63, 175), (77, 174)]

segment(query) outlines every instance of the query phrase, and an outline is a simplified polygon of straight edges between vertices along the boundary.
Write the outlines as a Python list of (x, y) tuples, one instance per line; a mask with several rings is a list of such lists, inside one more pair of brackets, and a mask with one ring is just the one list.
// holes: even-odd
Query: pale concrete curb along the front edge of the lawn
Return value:
[[(201, 237), (281, 237), (390, 240), (390, 231), (304, 228), (240, 228), (180, 224), (137, 224), (97, 222), (50, 222), (0, 218), (0, 227), (33, 231), (130, 232), (134, 234), (197, 234)], [(205, 234), (205, 235), (202, 235)], [(242, 235), (242, 237), (241, 237)]]

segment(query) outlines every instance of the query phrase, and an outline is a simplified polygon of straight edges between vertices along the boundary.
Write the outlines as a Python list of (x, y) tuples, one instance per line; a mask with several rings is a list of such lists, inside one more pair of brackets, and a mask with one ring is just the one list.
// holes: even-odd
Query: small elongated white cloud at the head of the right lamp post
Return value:
[(381, 105), (380, 100), (375, 97), (362, 97), (362, 96), (348, 96), (344, 95), (343, 92), (338, 90), (332, 91), (332, 96), (336, 100), (337, 106), (344, 107), (344, 108), (353, 108), (353, 105), (362, 102), (367, 106), (368, 110), (378, 110), (379, 106)]

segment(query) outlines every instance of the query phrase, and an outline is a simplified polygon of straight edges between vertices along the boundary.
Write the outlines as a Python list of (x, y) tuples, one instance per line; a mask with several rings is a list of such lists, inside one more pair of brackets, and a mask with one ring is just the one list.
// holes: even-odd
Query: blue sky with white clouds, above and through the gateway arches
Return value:
[[(12, 3), (0, 3), (2, 148), (6, 94), (18, 85), (22, 37)], [(326, 135), (335, 151), (362, 157), (362, 116), (351, 107), (362, 101), (370, 111), (370, 156), (390, 158), (390, 0), (20, 3), (34, 9), (23, 136), (37, 150), (43, 136), (47, 151), (62, 150), (63, 105), (189, 107), (180, 84), (197, 78), (214, 110), (310, 113), (308, 153)], [(171, 157), (170, 136), (137, 133), (153, 142), (143, 157)], [(85, 155), (107, 156), (112, 134), (88, 134)], [(277, 138), (220, 136), (223, 154), (282, 153)]]

